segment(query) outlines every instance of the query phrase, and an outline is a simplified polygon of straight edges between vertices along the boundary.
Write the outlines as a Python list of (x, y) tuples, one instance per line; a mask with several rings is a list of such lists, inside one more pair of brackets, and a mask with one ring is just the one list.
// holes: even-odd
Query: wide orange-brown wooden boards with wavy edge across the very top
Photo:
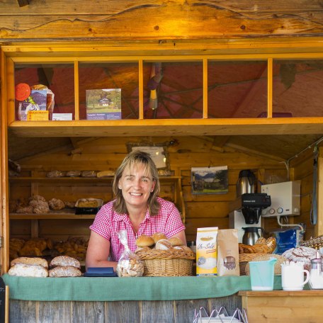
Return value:
[(0, 4), (0, 40), (322, 36), (321, 1), (29, 1)]

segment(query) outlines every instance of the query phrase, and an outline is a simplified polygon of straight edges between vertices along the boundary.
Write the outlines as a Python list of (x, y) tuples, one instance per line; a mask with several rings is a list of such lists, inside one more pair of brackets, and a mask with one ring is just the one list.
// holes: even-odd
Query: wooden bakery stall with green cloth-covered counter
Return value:
[[(181, 211), (188, 241), (196, 239), (197, 227), (229, 226), (242, 169), (254, 170), (261, 183), (300, 180), (301, 215), (290, 222), (305, 223), (305, 239), (323, 234), (321, 217), (317, 225), (310, 222), (316, 145), (322, 176), (322, 15), (312, 1), (1, 3), (1, 273), (8, 271), (11, 238), (86, 239), (94, 218), (71, 212), (26, 216), (11, 212), (10, 200), (41, 193), (46, 199), (72, 201), (86, 194), (108, 201), (112, 178), (46, 174), (114, 171), (130, 145), (165, 148), (171, 176), (161, 178), (161, 195)], [(152, 109), (147, 83), (157, 63), (164, 77)], [(20, 82), (48, 85), (57, 111), (72, 119), (19, 120), (14, 89)], [(86, 120), (86, 89), (102, 86), (121, 89), (121, 120)], [(21, 176), (9, 176), (8, 159), (21, 165)], [(224, 165), (226, 194), (191, 192), (191, 167)], [(318, 183), (320, 214), (323, 181)], [(270, 231), (277, 224), (266, 219), (264, 225)], [(118, 278), (104, 281), (106, 290), (98, 295), (86, 293), (88, 278), (64, 280), (64, 287), (62, 280), (54, 287), (34, 280), (37, 293), (28, 280), (6, 281), (12, 286), (12, 322), (26, 315), (35, 322), (188, 322), (200, 306), (254, 306), (252, 292), (238, 295), (250, 289), (246, 276), (202, 284), (194, 278), (142, 278), (127, 296), (129, 283), (120, 285)], [(138, 296), (148, 279), (151, 288)], [(97, 284), (96, 290), (102, 282)], [(276, 289), (279, 284), (276, 278)]]

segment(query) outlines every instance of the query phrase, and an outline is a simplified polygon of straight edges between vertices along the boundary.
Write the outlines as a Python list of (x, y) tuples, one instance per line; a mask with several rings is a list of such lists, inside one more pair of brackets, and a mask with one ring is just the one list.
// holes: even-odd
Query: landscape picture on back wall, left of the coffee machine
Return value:
[(192, 167), (191, 183), (193, 194), (227, 193), (227, 166)]

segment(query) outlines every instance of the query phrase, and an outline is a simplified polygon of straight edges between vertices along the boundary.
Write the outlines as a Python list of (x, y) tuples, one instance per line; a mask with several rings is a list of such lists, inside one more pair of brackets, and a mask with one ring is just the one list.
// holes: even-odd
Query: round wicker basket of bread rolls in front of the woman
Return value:
[(144, 263), (143, 276), (191, 276), (195, 254), (181, 239), (157, 232), (138, 237), (135, 254)]

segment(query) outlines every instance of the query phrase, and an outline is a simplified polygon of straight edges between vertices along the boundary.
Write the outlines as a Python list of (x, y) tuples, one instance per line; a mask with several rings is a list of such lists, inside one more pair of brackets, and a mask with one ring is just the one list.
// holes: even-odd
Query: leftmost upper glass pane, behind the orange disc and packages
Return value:
[[(73, 64), (33, 64), (15, 65), (15, 86), (26, 83), (29, 86), (42, 84), (55, 95), (53, 113), (72, 113), (74, 119), (74, 65)], [(16, 120), (19, 101), (15, 101)], [(50, 120), (52, 120), (50, 113)]]

